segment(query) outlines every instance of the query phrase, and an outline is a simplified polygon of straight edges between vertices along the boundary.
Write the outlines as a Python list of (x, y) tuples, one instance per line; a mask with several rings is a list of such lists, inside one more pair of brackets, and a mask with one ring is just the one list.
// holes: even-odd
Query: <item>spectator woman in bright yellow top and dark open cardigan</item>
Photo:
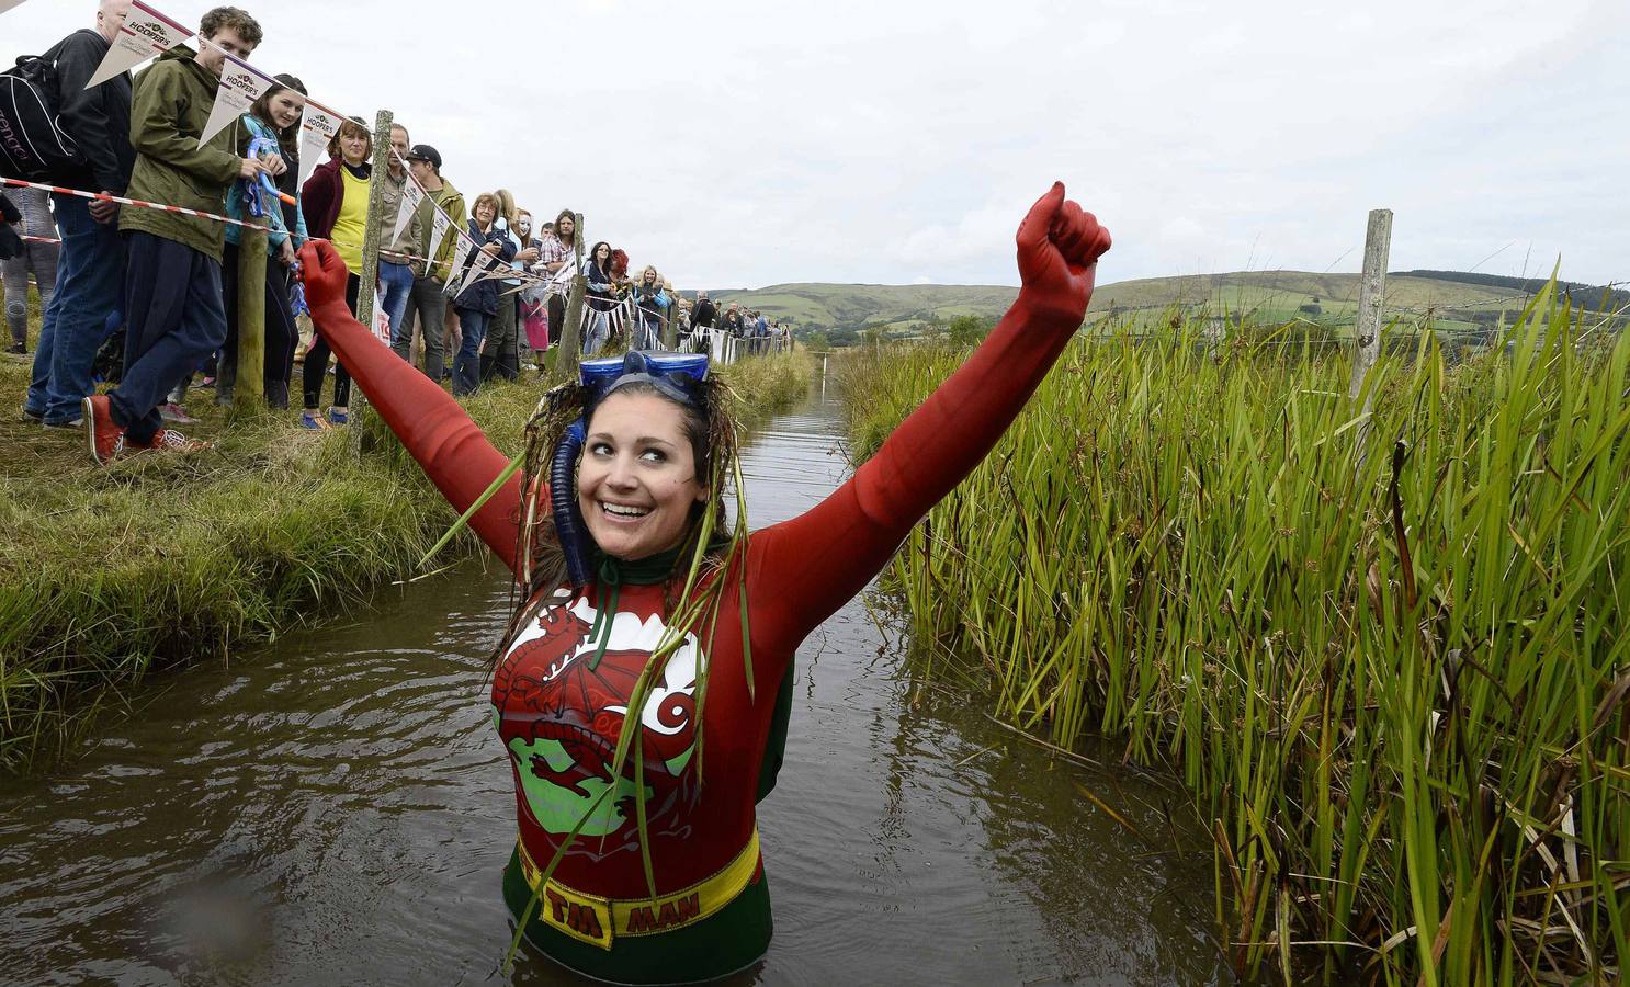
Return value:
[[(373, 137), (368, 127), (352, 117), (339, 125), (339, 134), (328, 142), (326, 164), (319, 164), (305, 187), (300, 189), (300, 207), (306, 215), (311, 236), (329, 239), (350, 270), (346, 285), (346, 301), (350, 314), (357, 314), (357, 292), (362, 279), (362, 241), (368, 231), (368, 174), (373, 169)], [(350, 375), (341, 363), (334, 371), (334, 406), (323, 417), (323, 378), (328, 371), (328, 340), (321, 336), (311, 340), (302, 376), (305, 383), (303, 428), (328, 428), (344, 425), (350, 406)]]

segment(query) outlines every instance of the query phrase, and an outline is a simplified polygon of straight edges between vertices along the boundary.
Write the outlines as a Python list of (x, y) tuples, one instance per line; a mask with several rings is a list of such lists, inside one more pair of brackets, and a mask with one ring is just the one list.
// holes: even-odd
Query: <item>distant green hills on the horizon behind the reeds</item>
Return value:
[[(1472, 279), (1472, 280), (1465, 280)], [(1503, 313), (1521, 309), (1526, 283), (1475, 283), (1457, 272), (1400, 272), (1387, 279), (1387, 318), (1434, 329), (1470, 331), (1496, 324)], [(1493, 279), (1509, 282), (1511, 279)], [(1087, 321), (1105, 316), (1154, 318), (1169, 306), (1206, 306), (1213, 314), (1257, 322), (1302, 319), (1322, 326), (1351, 326), (1358, 303), (1356, 274), (1249, 270), (1157, 277), (1099, 285)], [(973, 314), (994, 319), (1012, 303), (1017, 288), (1001, 285), (830, 285), (791, 283), (756, 290), (711, 292), (716, 301), (740, 301), (799, 331), (885, 329), (901, 334), (924, 324)], [(1575, 292), (1596, 306), (1601, 290)]]

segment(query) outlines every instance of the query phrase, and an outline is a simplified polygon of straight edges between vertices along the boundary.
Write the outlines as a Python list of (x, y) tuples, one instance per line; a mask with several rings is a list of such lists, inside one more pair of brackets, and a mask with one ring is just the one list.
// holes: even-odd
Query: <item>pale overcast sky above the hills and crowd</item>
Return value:
[[(197, 24), (209, 3), (158, 0)], [(681, 287), (1017, 283), (1061, 178), (1099, 282), (1392, 269), (1630, 279), (1627, 0), (277, 0), (251, 59), (466, 194), (582, 210)], [(0, 13), (0, 57), (90, 24)], [(541, 222), (541, 220), (540, 220)]]

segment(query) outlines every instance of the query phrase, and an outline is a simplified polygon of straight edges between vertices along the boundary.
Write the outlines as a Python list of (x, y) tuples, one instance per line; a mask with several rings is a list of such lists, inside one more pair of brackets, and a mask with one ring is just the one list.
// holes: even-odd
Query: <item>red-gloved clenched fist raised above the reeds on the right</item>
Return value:
[(1058, 319), (1071, 331), (1087, 318), (1099, 257), (1110, 249), (1110, 231), (1090, 212), (1064, 199), (1064, 182), (1053, 182), (1019, 223), (1019, 296), (1030, 311)]

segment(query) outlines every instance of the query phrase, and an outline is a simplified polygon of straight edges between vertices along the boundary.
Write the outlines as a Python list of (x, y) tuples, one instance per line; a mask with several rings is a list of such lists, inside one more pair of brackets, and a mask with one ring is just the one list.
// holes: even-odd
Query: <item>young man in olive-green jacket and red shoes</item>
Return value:
[[(261, 44), (261, 24), (236, 7), (217, 7), (204, 15), (199, 37), (197, 52), (174, 47), (135, 80), (130, 143), (137, 160), (129, 195), (222, 213), (233, 181), (279, 174), (285, 166), (240, 158), (231, 150), (231, 127), (199, 143), (227, 55), (246, 59)], [(124, 379), (109, 394), (85, 399), (85, 435), (96, 463), (126, 446), (187, 448), (187, 440), (165, 428), (158, 404), (227, 339), (220, 287), (225, 226), (126, 208), (119, 230), (127, 249)]]

